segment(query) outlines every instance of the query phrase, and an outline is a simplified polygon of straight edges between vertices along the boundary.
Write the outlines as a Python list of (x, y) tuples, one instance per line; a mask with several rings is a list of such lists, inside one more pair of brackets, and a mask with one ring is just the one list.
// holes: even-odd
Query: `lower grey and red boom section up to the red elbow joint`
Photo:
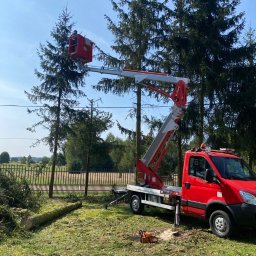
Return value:
[[(164, 94), (166, 95), (166, 93)], [(157, 174), (157, 170), (167, 152), (169, 139), (173, 137), (175, 131), (179, 128), (177, 122), (183, 113), (182, 108), (186, 105), (187, 88), (184, 81), (180, 80), (176, 84), (174, 92), (169, 97), (174, 101), (175, 105), (172, 107), (170, 115), (166, 118), (148, 151), (141, 160), (138, 160), (136, 165), (139, 177), (143, 179), (146, 185), (156, 189), (161, 189), (164, 185)]]

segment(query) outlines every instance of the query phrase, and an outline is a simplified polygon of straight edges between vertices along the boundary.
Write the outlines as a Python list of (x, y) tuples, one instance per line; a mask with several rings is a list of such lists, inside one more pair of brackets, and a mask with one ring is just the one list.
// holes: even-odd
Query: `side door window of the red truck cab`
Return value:
[(190, 158), (189, 175), (204, 179), (206, 169), (210, 169), (210, 165), (203, 157), (192, 156)]

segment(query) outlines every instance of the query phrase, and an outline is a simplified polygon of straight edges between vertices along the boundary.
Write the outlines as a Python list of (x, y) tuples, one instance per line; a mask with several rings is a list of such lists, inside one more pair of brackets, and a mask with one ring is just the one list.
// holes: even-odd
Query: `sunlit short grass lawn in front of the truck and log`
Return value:
[[(103, 208), (103, 202), (83, 202), (83, 207), (33, 232), (0, 243), (1, 256), (18, 255), (256, 255), (256, 232), (243, 230), (236, 238), (220, 239), (207, 224), (181, 218), (179, 236), (171, 236), (173, 215), (146, 209), (134, 215), (127, 204)], [(157, 244), (142, 244), (139, 230), (153, 231)]]

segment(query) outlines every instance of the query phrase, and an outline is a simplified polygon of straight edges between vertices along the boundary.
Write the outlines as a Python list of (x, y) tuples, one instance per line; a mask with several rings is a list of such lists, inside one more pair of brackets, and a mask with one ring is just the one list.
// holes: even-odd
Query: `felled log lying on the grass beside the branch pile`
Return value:
[(73, 210), (76, 210), (82, 206), (82, 202), (76, 202), (69, 204), (67, 206), (55, 209), (51, 212), (46, 212), (42, 214), (37, 214), (32, 217), (29, 217), (21, 222), (21, 225), (26, 230), (31, 230), (34, 228), (37, 228), (43, 224), (46, 224), (49, 221), (52, 221), (54, 219), (57, 219), (60, 216), (63, 216), (64, 214), (67, 214)]

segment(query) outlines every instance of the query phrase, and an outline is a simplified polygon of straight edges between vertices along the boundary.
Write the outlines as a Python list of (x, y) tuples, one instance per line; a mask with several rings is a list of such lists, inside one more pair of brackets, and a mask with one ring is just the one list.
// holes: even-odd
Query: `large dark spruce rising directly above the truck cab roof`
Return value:
[(183, 60), (191, 79), (192, 96), (188, 113), (194, 117), (191, 123), (199, 144), (206, 139), (209, 117), (228, 87), (230, 64), (241, 56), (236, 44), (244, 25), (243, 13), (236, 13), (239, 0), (174, 2), (176, 6), (185, 5), (173, 12), (175, 18), (182, 17), (183, 31), (174, 33), (172, 41), (176, 54), (185, 53)]

